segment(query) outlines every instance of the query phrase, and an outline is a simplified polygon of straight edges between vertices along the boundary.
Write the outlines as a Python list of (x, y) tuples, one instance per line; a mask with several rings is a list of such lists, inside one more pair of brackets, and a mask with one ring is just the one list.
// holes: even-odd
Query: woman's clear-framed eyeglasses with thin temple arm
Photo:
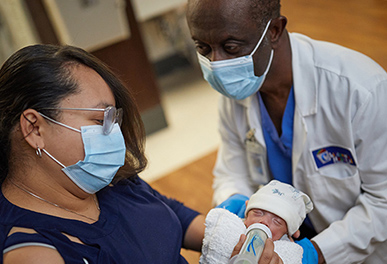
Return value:
[(105, 135), (110, 134), (115, 123), (121, 126), (122, 123), (122, 108), (115, 108), (114, 106), (108, 106), (105, 109), (102, 108), (70, 108), (70, 107), (57, 107), (57, 108), (44, 108), (42, 110), (80, 110), (80, 111), (103, 111), (103, 124), (102, 131)]

